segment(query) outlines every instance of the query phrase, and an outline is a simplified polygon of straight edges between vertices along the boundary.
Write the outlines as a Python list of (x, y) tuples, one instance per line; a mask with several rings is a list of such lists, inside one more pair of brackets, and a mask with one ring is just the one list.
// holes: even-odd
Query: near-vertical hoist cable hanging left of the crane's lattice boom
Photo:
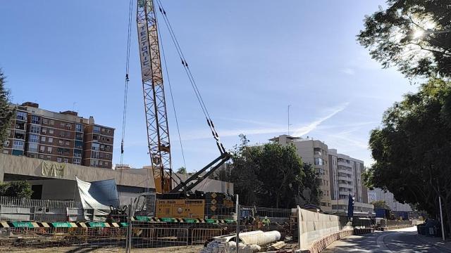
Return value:
[[(130, 44), (131, 44), (131, 34), (132, 34), (132, 10), (133, 10), (133, 0), (130, 0), (128, 6), (128, 32), (127, 32), (127, 53), (125, 57), (125, 87), (124, 87), (124, 105), (123, 105), (123, 117), (122, 117), (122, 136), (121, 136), (121, 168), (119, 169), (119, 185), (122, 185), (122, 171), (123, 171), (123, 160), (124, 160), (124, 141), (125, 141), (125, 126), (127, 125), (127, 103), (128, 103), (128, 82), (130, 78), (128, 76), (130, 70)], [(119, 199), (121, 199), (121, 191), (119, 191)]]

